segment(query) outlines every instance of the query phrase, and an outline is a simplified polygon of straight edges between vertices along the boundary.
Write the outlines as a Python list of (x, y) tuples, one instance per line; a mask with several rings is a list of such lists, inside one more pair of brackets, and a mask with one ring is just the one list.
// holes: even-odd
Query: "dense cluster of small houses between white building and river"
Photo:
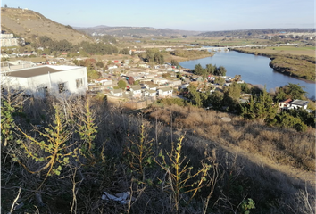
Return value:
[[(119, 61), (114, 61), (116, 65)], [(127, 63), (126, 63), (127, 62)], [(117, 70), (126, 69), (124, 73), (118, 74)], [(133, 66), (129, 64), (129, 61), (124, 60), (124, 63), (119, 63), (119, 66), (108, 66), (107, 70), (104, 70), (103, 78), (94, 79), (90, 83), (90, 88), (101, 87), (108, 91), (107, 95), (114, 97), (122, 97), (128, 99), (156, 99), (172, 97), (173, 88), (181, 86), (183, 83), (181, 79), (176, 78), (176, 75), (181, 70), (176, 70), (170, 64), (163, 64), (154, 66), (152, 69), (148, 69), (146, 63), (134, 63)], [(115, 75), (113, 75), (115, 73)], [(168, 77), (166, 77), (166, 76)], [(137, 81), (134, 85), (129, 85), (129, 78), (133, 81)], [(127, 87), (124, 90), (114, 89), (117, 86), (117, 81), (123, 79), (127, 83)], [(94, 91), (94, 89), (92, 89)]]

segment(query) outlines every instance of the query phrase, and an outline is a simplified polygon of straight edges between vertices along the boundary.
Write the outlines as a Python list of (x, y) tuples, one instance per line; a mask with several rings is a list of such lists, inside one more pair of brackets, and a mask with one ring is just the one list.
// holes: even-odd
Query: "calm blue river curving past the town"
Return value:
[(235, 77), (241, 75), (241, 78), (253, 85), (266, 86), (267, 91), (275, 90), (276, 87), (285, 86), (288, 83), (304, 86), (309, 98), (316, 98), (316, 84), (307, 83), (297, 78), (291, 78), (270, 68), (270, 58), (254, 54), (231, 52), (216, 52), (212, 57), (198, 60), (180, 62), (179, 64), (187, 69), (194, 69), (195, 65), (200, 63), (202, 67), (206, 64), (216, 64), (224, 66), (227, 70), (226, 75)]

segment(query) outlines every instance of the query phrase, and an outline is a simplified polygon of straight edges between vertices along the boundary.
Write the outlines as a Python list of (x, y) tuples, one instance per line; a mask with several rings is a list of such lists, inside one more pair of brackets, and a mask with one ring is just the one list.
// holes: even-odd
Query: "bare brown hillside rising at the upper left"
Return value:
[(81, 41), (92, 41), (71, 26), (64, 26), (47, 19), (38, 12), (20, 8), (0, 8), (1, 26), (5, 33), (13, 33), (15, 37), (23, 37), (32, 41), (36, 37), (47, 36), (53, 40), (66, 39), (76, 45)]

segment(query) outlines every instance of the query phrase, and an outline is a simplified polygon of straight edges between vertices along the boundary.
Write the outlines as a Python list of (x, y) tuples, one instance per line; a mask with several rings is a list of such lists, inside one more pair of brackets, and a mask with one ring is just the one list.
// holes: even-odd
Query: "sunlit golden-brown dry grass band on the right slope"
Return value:
[[(193, 107), (163, 107), (151, 110), (149, 115), (169, 123), (170, 118), (163, 114), (166, 111), (178, 115), (174, 118), (178, 127), (192, 129), (195, 134), (214, 142), (221, 142), (225, 146), (237, 145), (242, 150), (260, 154), (270, 161), (316, 171), (315, 164), (312, 164), (316, 162), (314, 130), (299, 133), (292, 129), (269, 128), (223, 112)], [(220, 119), (222, 117), (230, 117), (232, 121), (225, 123)]]

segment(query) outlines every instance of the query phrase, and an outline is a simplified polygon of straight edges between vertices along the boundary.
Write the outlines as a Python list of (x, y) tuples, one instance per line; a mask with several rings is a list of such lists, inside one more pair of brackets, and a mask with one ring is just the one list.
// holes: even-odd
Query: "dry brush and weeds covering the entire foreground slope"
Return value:
[[(20, 212), (313, 211), (315, 183), (301, 180), (314, 182), (313, 131), (194, 106), (154, 105), (133, 115), (102, 97), (20, 98), (1, 99), (15, 125), (1, 133), (1, 211), (10, 210), (20, 185)], [(101, 200), (104, 192), (127, 193), (130, 201)]]

